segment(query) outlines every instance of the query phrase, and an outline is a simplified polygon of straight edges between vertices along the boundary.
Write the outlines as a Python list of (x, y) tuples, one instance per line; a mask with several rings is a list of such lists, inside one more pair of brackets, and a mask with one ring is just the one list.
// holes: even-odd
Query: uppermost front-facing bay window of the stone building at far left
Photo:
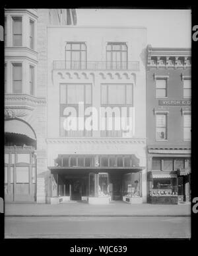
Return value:
[(13, 17), (13, 46), (22, 46), (22, 17)]

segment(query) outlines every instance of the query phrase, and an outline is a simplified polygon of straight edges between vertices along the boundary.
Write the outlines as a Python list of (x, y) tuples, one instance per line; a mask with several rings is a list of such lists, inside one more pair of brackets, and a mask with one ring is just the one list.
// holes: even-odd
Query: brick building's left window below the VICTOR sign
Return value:
[(156, 114), (156, 140), (167, 140), (166, 114)]

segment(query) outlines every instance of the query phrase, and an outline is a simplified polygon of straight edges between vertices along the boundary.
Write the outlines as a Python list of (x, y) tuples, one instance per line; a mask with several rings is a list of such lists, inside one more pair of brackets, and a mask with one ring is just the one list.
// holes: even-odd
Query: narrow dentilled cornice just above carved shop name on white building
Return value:
[(48, 138), (48, 144), (146, 144), (146, 138)]

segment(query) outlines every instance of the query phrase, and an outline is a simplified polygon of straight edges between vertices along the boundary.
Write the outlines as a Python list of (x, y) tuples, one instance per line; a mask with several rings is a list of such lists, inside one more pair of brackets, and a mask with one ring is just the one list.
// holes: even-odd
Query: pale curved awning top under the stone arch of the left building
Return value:
[(6, 120), (5, 132), (9, 132), (11, 134), (22, 134), (28, 136), (32, 140), (36, 140), (36, 136), (30, 126), (20, 120)]

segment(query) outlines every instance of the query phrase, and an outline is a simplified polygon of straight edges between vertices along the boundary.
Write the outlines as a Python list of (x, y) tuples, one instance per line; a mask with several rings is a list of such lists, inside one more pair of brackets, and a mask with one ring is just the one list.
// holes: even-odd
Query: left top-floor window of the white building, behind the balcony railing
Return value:
[(66, 67), (69, 69), (86, 69), (86, 44), (84, 42), (67, 42)]

